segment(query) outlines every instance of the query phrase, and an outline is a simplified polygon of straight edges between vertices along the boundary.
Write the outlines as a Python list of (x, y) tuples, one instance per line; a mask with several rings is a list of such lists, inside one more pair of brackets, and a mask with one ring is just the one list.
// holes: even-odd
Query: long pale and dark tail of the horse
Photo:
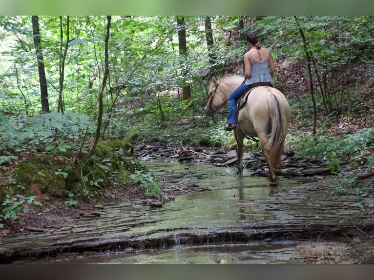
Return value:
[(284, 140), (287, 135), (288, 121), (281, 106), (279, 97), (273, 93), (268, 95), (269, 114), (271, 120), (271, 134), (269, 138), (269, 147), (266, 147), (272, 155), (272, 164), (277, 172), (280, 172), (281, 156), (283, 152)]

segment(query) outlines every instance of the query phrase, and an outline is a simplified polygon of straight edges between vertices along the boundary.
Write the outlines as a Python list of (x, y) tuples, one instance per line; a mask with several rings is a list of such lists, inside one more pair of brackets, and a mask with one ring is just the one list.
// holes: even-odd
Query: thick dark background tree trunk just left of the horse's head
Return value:
[[(186, 79), (188, 75), (187, 69), (187, 42), (186, 42), (186, 28), (185, 28), (185, 18), (181, 16), (177, 16), (177, 24), (178, 24), (178, 43), (179, 43), (179, 55), (181, 58), (181, 69), (182, 69), (182, 76)], [(182, 87), (182, 99), (187, 100), (191, 98), (191, 87), (186, 82), (186, 84)]]

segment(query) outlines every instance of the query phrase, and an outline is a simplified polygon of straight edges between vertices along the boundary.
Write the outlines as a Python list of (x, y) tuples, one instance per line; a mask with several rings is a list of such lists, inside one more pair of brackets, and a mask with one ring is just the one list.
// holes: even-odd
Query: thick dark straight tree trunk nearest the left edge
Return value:
[(36, 50), (36, 57), (38, 60), (38, 72), (39, 72), (39, 83), (40, 83), (40, 92), (42, 99), (42, 113), (49, 113), (49, 102), (48, 102), (48, 88), (47, 88), (47, 79), (45, 78), (44, 71), (44, 60), (42, 52), (42, 44), (40, 41), (40, 32), (39, 32), (39, 17), (31, 16), (32, 20), (32, 31), (34, 37), (34, 45)]

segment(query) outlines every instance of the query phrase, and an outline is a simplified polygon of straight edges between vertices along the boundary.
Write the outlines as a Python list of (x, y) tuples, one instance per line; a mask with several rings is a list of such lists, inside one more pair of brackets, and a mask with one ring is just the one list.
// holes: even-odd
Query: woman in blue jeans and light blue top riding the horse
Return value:
[(236, 102), (252, 87), (255, 82), (272, 83), (275, 73), (274, 60), (267, 48), (261, 47), (254, 33), (248, 33), (246, 37), (248, 52), (244, 55), (245, 72), (244, 82), (229, 95), (229, 116), (226, 120), (225, 130), (236, 128)]

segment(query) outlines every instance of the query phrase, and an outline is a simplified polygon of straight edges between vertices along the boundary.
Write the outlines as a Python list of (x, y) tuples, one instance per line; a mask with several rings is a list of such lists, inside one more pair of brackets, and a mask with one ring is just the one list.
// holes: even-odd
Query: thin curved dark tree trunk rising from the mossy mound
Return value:
[(105, 66), (104, 66), (104, 77), (103, 77), (103, 83), (102, 87), (100, 89), (99, 93), (99, 116), (97, 120), (97, 128), (96, 128), (96, 137), (94, 145), (91, 149), (90, 156), (92, 156), (95, 152), (97, 142), (99, 141), (101, 137), (101, 126), (103, 122), (103, 112), (104, 112), (104, 103), (103, 103), (103, 96), (104, 96), (104, 90), (106, 87), (106, 80), (109, 75), (109, 62), (108, 62), (108, 41), (109, 41), (109, 32), (110, 32), (110, 20), (111, 16), (106, 16), (107, 19), (107, 25), (106, 25), (106, 37), (105, 37)]

